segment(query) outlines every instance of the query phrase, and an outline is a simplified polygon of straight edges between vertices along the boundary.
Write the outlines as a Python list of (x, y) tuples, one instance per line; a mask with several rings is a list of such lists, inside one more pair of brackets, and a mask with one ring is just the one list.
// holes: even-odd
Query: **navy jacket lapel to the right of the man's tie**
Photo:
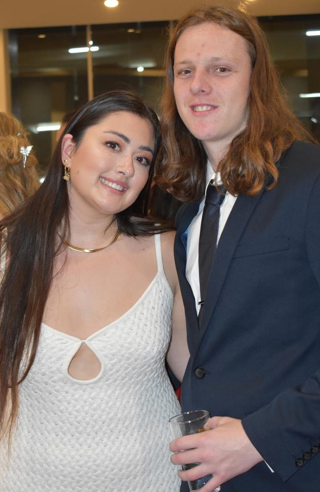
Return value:
[(224, 285), (224, 279), (228, 273), (234, 250), (240, 241), (241, 235), (254, 212), (263, 191), (264, 189), (256, 196), (239, 195), (224, 226), (208, 279), (208, 302), (204, 305), (198, 345), (210, 323), (221, 289)]

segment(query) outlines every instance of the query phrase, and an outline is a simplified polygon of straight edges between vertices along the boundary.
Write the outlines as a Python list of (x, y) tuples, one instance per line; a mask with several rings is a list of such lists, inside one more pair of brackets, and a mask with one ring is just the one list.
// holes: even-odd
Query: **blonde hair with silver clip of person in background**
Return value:
[(22, 124), (0, 113), (0, 218), (38, 189), (37, 160)]

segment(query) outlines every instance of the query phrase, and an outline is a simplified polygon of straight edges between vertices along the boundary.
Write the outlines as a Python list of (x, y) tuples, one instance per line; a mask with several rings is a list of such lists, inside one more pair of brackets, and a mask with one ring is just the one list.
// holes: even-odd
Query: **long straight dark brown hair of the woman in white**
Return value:
[[(8, 431), (10, 436), (18, 411), (18, 386), (28, 375), (36, 354), (55, 257), (64, 247), (57, 232), (69, 237), (69, 197), (61, 159), (63, 136), (72, 134), (77, 148), (89, 127), (122, 111), (151, 123), (156, 157), (160, 124), (154, 111), (131, 92), (100, 95), (80, 109), (66, 126), (37, 192), (0, 221), (0, 267), (4, 273), (0, 283), (0, 434)], [(118, 230), (128, 236), (168, 229), (146, 217), (155, 157), (148, 182), (135, 203), (115, 216)]]

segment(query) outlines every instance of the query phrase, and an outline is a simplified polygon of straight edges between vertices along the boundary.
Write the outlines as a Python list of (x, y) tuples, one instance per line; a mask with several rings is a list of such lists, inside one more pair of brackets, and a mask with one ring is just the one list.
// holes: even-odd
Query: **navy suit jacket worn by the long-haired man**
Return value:
[(295, 142), (278, 164), (273, 189), (235, 202), (201, 326), (185, 276), (184, 237), (199, 203), (183, 205), (177, 216), (175, 259), (191, 354), (182, 409), (242, 419), (275, 471), (260, 462), (222, 492), (320, 491), (320, 147)]

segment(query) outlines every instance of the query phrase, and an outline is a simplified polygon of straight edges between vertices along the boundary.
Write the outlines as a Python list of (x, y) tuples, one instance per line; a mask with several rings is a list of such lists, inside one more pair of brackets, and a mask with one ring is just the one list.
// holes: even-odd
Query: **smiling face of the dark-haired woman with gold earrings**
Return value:
[(147, 183), (155, 137), (148, 120), (119, 111), (90, 126), (79, 145), (64, 135), (62, 160), (70, 168), (73, 210), (114, 215), (127, 209)]

